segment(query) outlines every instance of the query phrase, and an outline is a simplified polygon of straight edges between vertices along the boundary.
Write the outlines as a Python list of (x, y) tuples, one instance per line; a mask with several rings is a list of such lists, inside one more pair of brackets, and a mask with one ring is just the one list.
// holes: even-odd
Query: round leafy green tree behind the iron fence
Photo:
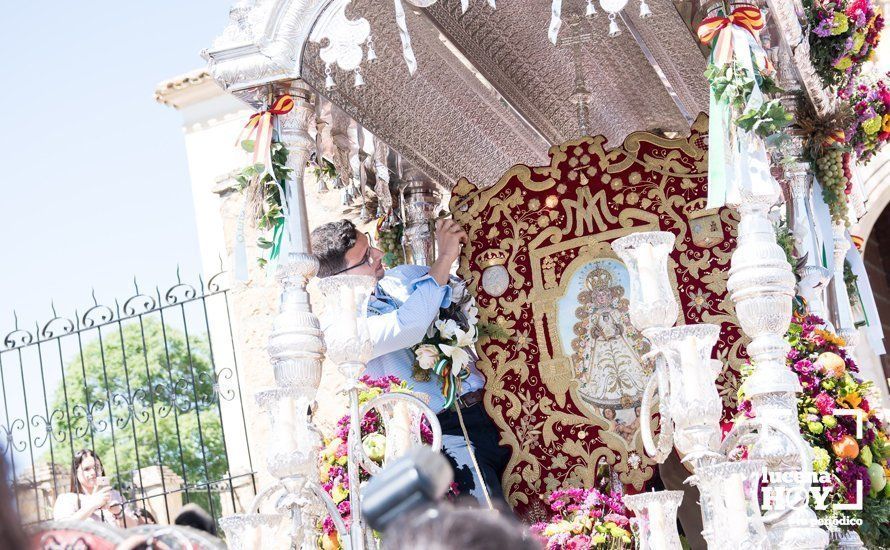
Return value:
[(56, 433), (64, 434), (57, 462), (70, 464), (73, 452), (93, 449), (130, 498), (139, 496), (127, 490), (134, 472), (162, 465), (185, 480), (184, 500), (219, 514), (219, 497), (205, 484), (225, 477), (228, 464), (205, 334), (186, 340), (149, 318), (112, 324), (64, 372), (52, 406), (59, 411)]

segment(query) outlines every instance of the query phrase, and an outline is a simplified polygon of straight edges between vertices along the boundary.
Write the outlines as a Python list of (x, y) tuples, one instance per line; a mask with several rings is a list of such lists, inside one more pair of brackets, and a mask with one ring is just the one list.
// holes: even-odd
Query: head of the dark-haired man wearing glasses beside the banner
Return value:
[(349, 220), (326, 223), (312, 231), (312, 253), (318, 258), (318, 276), (369, 275), (383, 278), (383, 251), (371, 245), (367, 234)]

